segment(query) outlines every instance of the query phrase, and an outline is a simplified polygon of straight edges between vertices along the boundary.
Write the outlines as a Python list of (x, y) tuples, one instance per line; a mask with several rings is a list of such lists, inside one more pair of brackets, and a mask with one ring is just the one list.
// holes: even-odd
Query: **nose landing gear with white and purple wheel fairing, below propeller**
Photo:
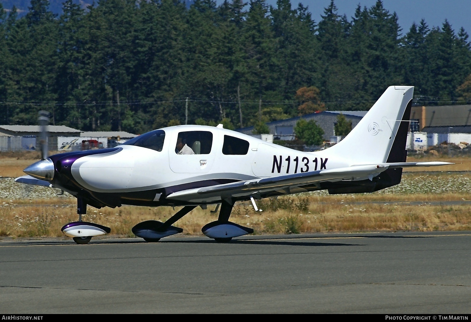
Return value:
[(79, 221), (68, 223), (62, 227), (62, 232), (68, 237), (73, 237), (73, 241), (77, 244), (88, 244), (93, 236), (105, 235), (111, 232), (111, 228), (82, 221), (82, 215), (87, 213), (87, 202), (81, 197), (77, 198), (77, 214)]

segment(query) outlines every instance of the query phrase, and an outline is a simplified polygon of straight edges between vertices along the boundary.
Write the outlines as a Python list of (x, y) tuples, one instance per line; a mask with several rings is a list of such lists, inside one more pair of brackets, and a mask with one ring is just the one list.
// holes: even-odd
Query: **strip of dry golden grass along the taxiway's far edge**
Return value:
[[(365, 232), (398, 230), (470, 230), (471, 212), (468, 205), (420, 205), (356, 203), (376, 199), (396, 199), (396, 195), (365, 195), (358, 200), (352, 196), (299, 195), (258, 201), (262, 212), (255, 212), (250, 202), (235, 206), (231, 221), (252, 227), (255, 234)], [(402, 196), (404, 198), (404, 196)], [(458, 196), (459, 197), (459, 196)], [(343, 198), (343, 199), (340, 199)], [(430, 201), (431, 197), (429, 197)], [(355, 202), (355, 203), (353, 203)], [(200, 235), (203, 225), (217, 220), (210, 209), (196, 208), (176, 225), (184, 234)], [(0, 207), (0, 235), (11, 237), (63, 236), (60, 229), (76, 221), (75, 204), (41, 205), (5, 203)], [(94, 209), (82, 216), (84, 221), (111, 227), (113, 235), (133, 236), (131, 228), (144, 220), (165, 221), (178, 208), (135, 207)]]

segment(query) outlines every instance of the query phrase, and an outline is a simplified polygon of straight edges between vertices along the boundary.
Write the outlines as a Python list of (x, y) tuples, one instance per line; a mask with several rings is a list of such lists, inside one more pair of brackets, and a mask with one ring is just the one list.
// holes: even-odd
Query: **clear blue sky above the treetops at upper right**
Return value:
[[(217, 0), (217, 3), (220, 4), (222, 1)], [(293, 7), (297, 7), (299, 2), (309, 7), (316, 23), (320, 21), (321, 14), (324, 14), (324, 8), (330, 4), (330, 0), (291, 0)], [(398, 15), (398, 23), (403, 34), (409, 31), (412, 23), (418, 24), (422, 18), (430, 28), (441, 27), (445, 19), (448, 19), (456, 33), (463, 27), (468, 34), (471, 34), (471, 0), (383, 0), (382, 2), (383, 7), (390, 13), (396, 12)], [(276, 0), (267, 0), (267, 3), (276, 6)], [(351, 20), (358, 4), (362, 8), (364, 6), (370, 8), (376, 0), (334, 0), (334, 3), (339, 9), (338, 13), (346, 14)]]

